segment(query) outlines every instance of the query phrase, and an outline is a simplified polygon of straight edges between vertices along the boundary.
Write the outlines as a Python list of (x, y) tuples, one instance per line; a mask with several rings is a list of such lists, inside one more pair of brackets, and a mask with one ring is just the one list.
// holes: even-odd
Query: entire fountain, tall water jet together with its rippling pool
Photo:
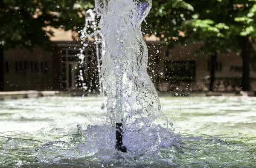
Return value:
[[(97, 97), (0, 101), (0, 166), (256, 165), (255, 98), (162, 97), (160, 113), (140, 32), (150, 8), (150, 0), (96, 0), (99, 26), (91, 34), (84, 30), (84, 37), (99, 35), (104, 49), (107, 113)], [(178, 131), (163, 112), (176, 120)]]

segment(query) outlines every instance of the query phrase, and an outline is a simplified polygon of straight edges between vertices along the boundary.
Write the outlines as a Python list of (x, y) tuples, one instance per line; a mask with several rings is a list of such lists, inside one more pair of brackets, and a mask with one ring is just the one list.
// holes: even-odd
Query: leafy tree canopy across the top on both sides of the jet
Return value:
[[(93, 0), (1, 0), (0, 51), (50, 46), (49, 27), (81, 30), (85, 11), (93, 6)], [(243, 88), (248, 90), (249, 59), (256, 60), (255, 20), (256, 0), (152, 0), (143, 32), (171, 47), (201, 42), (199, 54), (240, 53), (247, 83)]]

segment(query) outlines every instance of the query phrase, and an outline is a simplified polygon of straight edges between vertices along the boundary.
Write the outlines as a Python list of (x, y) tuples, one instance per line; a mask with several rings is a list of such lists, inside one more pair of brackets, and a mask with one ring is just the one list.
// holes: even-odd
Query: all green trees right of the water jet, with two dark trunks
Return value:
[(256, 0), (155, 0), (147, 20), (148, 33), (169, 46), (201, 42), (196, 54), (211, 56), (211, 80), (215, 81), (218, 53), (240, 53), (243, 60), (242, 89), (250, 90), (250, 55), (255, 41)]

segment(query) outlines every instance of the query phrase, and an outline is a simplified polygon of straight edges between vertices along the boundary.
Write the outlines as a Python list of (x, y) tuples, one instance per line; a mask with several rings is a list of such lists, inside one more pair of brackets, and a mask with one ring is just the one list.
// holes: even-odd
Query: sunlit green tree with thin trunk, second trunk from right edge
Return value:
[(181, 29), (186, 32), (186, 41), (203, 43), (196, 54), (211, 57), (209, 90), (213, 91), (218, 53), (238, 52), (237, 41), (230, 41), (233, 31), (230, 26), (236, 24), (233, 19), (236, 11), (229, 0), (187, 2), (191, 3), (195, 12), (183, 23)]

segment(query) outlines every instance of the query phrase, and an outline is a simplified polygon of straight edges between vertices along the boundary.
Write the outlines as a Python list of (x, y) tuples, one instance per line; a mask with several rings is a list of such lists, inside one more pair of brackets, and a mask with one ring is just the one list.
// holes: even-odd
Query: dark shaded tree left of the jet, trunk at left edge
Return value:
[(3, 90), (3, 54), (9, 49), (51, 48), (53, 35), (47, 26), (64, 30), (81, 29), (84, 10), (93, 0), (0, 0), (0, 91)]

